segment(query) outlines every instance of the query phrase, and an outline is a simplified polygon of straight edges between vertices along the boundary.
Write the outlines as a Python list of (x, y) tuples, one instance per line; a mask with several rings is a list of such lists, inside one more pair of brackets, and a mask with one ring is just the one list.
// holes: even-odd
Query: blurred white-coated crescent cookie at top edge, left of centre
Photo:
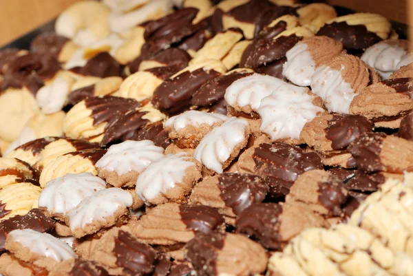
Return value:
[(171, 10), (173, 3), (171, 0), (152, 0), (131, 12), (123, 13), (114, 10), (109, 14), (109, 28), (112, 32), (126, 32), (136, 25), (151, 19), (153, 15), (165, 14)]

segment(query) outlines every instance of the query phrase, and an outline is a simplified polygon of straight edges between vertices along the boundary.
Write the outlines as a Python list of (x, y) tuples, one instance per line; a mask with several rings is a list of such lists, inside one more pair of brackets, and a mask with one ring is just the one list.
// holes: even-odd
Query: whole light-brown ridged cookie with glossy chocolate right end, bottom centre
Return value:
[(222, 232), (223, 227), (222, 215), (212, 207), (166, 203), (142, 215), (132, 233), (147, 244), (171, 246), (187, 243), (199, 233)]

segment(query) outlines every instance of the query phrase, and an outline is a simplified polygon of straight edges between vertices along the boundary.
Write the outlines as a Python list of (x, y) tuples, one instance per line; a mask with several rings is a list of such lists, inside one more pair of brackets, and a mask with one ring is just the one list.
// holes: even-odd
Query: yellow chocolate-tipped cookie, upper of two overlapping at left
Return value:
[(39, 153), (40, 160), (34, 164), (34, 167), (43, 170), (47, 164), (54, 162), (56, 158), (66, 153), (97, 148), (98, 145), (87, 142), (86, 140), (59, 138), (45, 145)]

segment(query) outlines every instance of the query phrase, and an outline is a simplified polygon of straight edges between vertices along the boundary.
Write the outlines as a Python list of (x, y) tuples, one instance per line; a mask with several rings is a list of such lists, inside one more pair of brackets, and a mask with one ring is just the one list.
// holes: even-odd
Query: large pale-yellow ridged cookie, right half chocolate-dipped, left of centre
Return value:
[(93, 97), (82, 100), (67, 112), (63, 131), (69, 138), (94, 138), (100, 142), (105, 127), (116, 122), (131, 109), (139, 107), (138, 101), (114, 96)]

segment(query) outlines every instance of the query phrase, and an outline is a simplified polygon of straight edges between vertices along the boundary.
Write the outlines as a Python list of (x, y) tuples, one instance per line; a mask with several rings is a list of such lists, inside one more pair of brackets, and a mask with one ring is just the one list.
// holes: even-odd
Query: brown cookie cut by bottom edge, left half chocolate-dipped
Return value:
[(264, 272), (268, 262), (260, 244), (233, 233), (197, 235), (184, 251), (185, 259), (195, 271), (213, 276), (259, 274)]

